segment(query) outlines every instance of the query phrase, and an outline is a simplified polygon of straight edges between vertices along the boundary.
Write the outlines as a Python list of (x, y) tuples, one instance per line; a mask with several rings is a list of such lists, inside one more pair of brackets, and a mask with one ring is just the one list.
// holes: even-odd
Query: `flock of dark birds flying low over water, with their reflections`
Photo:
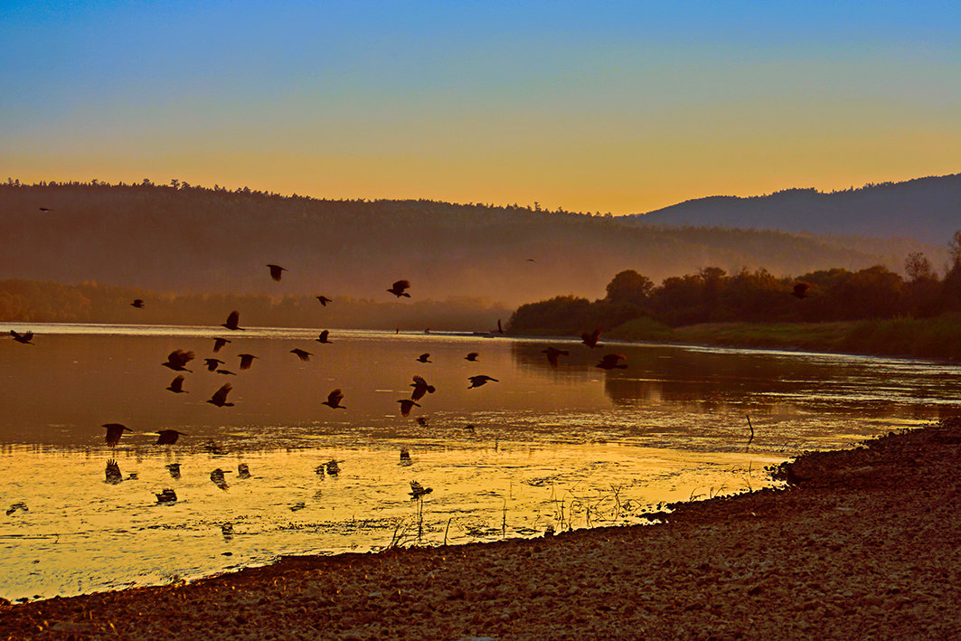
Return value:
[[(278, 264), (271, 263), (266, 266), (270, 270), (270, 276), (274, 281), (280, 281), (283, 278), (283, 272), (287, 271), (285, 267), (282, 267), (281, 265), (278, 265)], [(407, 292), (407, 289), (409, 289), (409, 287), (410, 287), (410, 283), (407, 280), (400, 280), (392, 284), (387, 289), (387, 291), (393, 294), (394, 296), (396, 296), (397, 298), (402, 298), (402, 297), (410, 298), (410, 294)], [(324, 307), (326, 307), (328, 303), (333, 302), (333, 299), (323, 295), (317, 296), (316, 298), (318, 302), (320, 302), (320, 304)], [(146, 308), (143, 299), (139, 299), (139, 298), (135, 299), (131, 303), (131, 306), (137, 309)], [(240, 327), (239, 322), (240, 322), (240, 314), (238, 311), (234, 310), (228, 315), (227, 320), (221, 325), (221, 327), (226, 328), (231, 332), (242, 332), (244, 331), (244, 328)], [(504, 330), (501, 327), (500, 320), (498, 320), (497, 332), (504, 333)], [(12, 335), (13, 340), (18, 343), (22, 343), (26, 345), (34, 344), (33, 332), (18, 333), (15, 330), (11, 330), (10, 333)], [(601, 335), (601, 330), (595, 330), (593, 333), (586, 333), (586, 332), (581, 333), (580, 337), (584, 345), (587, 345), (590, 348), (596, 348), (596, 347), (600, 347), (600, 344), (598, 342), (600, 335)], [(314, 340), (316, 340), (316, 342), (321, 344), (333, 343), (333, 341), (330, 340), (330, 332), (328, 330), (324, 330), (323, 332), (321, 332), (319, 336)], [(227, 344), (232, 342), (231, 339), (222, 338), (222, 337), (216, 337), (213, 339), (213, 341), (214, 341), (213, 350), (212, 350), (213, 354), (219, 353), (221, 349), (223, 349)], [(548, 347), (545, 350), (542, 350), (542, 352), (546, 355), (552, 367), (557, 366), (559, 357), (568, 356), (570, 354), (567, 350), (557, 349), (553, 346)], [(296, 357), (299, 357), (301, 360), (304, 360), (304, 361), (309, 360), (309, 358), (313, 356), (308, 351), (302, 350), (300, 348), (292, 349), (290, 350), (290, 353), (295, 355)], [(464, 359), (470, 362), (477, 362), (479, 356), (480, 355), (477, 352), (470, 352), (467, 354), (467, 356), (464, 357)], [(171, 352), (167, 356), (167, 359), (165, 362), (160, 363), (163, 367), (166, 367), (170, 370), (178, 372), (178, 375), (166, 387), (168, 391), (174, 394), (186, 393), (186, 390), (184, 389), (185, 376), (181, 374), (181, 372), (189, 373), (193, 371), (193, 370), (187, 369), (186, 365), (195, 357), (196, 355), (191, 351), (178, 349)], [(240, 359), (239, 361), (240, 370), (250, 369), (254, 360), (257, 358), (252, 354), (238, 354), (237, 357), (239, 357)], [(430, 357), (431, 357), (430, 353), (425, 353), (425, 354), (421, 354), (415, 360), (421, 363), (430, 363), (432, 362)], [(607, 354), (607, 355), (604, 355), (604, 357), (602, 357), (601, 362), (597, 364), (597, 367), (600, 367), (606, 370), (626, 368), (627, 364), (621, 362), (622, 360), (625, 360), (625, 357), (621, 355)], [(225, 365), (225, 364), (226, 363), (224, 360), (221, 360), (216, 356), (204, 358), (204, 365), (207, 367), (207, 369), (210, 372), (214, 372), (216, 374), (221, 374), (224, 376), (235, 376), (234, 372), (232, 372), (231, 370), (221, 367), (222, 365)], [(488, 382), (499, 382), (497, 379), (494, 379), (484, 374), (468, 377), (468, 381), (470, 382), (468, 389), (480, 387)], [(400, 405), (401, 415), (405, 417), (410, 415), (410, 411), (413, 407), (422, 407), (418, 403), (418, 401), (423, 399), (425, 395), (434, 393), (434, 391), (436, 390), (436, 388), (433, 385), (431, 385), (422, 376), (419, 376), (419, 375), (415, 375), (413, 377), (413, 382), (410, 383), (410, 386), (413, 387), (413, 390), (410, 393), (410, 398), (400, 399), (397, 401), (397, 403)], [(234, 403), (230, 403), (227, 400), (227, 397), (231, 393), (233, 388), (234, 387), (230, 382), (225, 382), (216, 391), (213, 392), (213, 394), (210, 396), (207, 403), (215, 407), (234, 407)], [(328, 394), (327, 400), (324, 401), (321, 405), (331, 407), (332, 409), (345, 409), (346, 407), (344, 407), (341, 404), (341, 401), (343, 401), (343, 399), (344, 399), (343, 392), (341, 391), (340, 388), (336, 388), (336, 389), (333, 389), (330, 392), (330, 394)], [(418, 418), (418, 422), (421, 425), (425, 425), (426, 419)], [(105, 428), (107, 431), (105, 441), (107, 445), (111, 448), (115, 448), (117, 446), (117, 444), (120, 442), (120, 438), (122, 437), (125, 431), (132, 431), (130, 428), (120, 423), (105, 423), (102, 427)], [(473, 426), (468, 426), (467, 429), (471, 430), (472, 428)], [(187, 435), (185, 432), (177, 431), (177, 430), (161, 430), (157, 433), (158, 433), (158, 438), (156, 443), (157, 445), (174, 445), (175, 443), (177, 443), (178, 439), (181, 436)], [(219, 446), (217, 446), (212, 441), (207, 444), (206, 448), (209, 452), (213, 454), (223, 454), (223, 451), (219, 448)], [(410, 464), (410, 455), (409, 455), (409, 452), (407, 452), (407, 450), (401, 451), (401, 464), (402, 465)], [(172, 478), (174, 479), (180, 478), (179, 463), (170, 463), (169, 465), (167, 465), (167, 470), (170, 473), (170, 476)], [(323, 474), (326, 471), (327, 474), (331, 476), (336, 476), (336, 474), (339, 472), (339, 466), (336, 460), (331, 460), (331, 461), (328, 461), (327, 463), (322, 463), (321, 465), (317, 466), (316, 471), (318, 474)], [(212, 481), (219, 488), (226, 490), (228, 488), (228, 485), (227, 485), (227, 482), (225, 481), (224, 474), (227, 472), (228, 472), (227, 470), (222, 470), (220, 468), (213, 470), (210, 473), (210, 481)], [(240, 479), (250, 478), (250, 470), (246, 463), (240, 463), (238, 465), (237, 474), (238, 474), (238, 478)], [(130, 479), (136, 478), (136, 474), (131, 474), (129, 478)], [(118, 483), (120, 481), (123, 481), (123, 476), (120, 472), (119, 464), (116, 462), (115, 459), (111, 458), (107, 461), (106, 482)], [(425, 488), (417, 481), (410, 481), (410, 487), (411, 487), (410, 496), (414, 499), (421, 499), (425, 494), (429, 494), (431, 492), (431, 488), (429, 487)], [(163, 489), (163, 491), (157, 494), (156, 496), (159, 504), (172, 504), (177, 502), (176, 492), (174, 492), (174, 490), (170, 488)], [(26, 507), (24, 507), (24, 509), (26, 509)]]

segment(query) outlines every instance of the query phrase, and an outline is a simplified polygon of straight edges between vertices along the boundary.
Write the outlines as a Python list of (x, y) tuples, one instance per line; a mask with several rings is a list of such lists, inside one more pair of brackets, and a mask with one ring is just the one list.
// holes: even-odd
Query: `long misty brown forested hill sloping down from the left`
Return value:
[[(44, 210), (41, 210), (43, 208)], [(328, 201), (176, 185), (0, 184), (0, 279), (175, 293), (484, 297), (516, 305), (558, 291), (604, 295), (611, 274), (654, 281), (705, 266), (776, 275), (875, 263), (900, 269), (910, 243), (847, 242), (431, 201)], [(943, 244), (949, 235), (939, 240)], [(270, 280), (266, 263), (289, 271)]]

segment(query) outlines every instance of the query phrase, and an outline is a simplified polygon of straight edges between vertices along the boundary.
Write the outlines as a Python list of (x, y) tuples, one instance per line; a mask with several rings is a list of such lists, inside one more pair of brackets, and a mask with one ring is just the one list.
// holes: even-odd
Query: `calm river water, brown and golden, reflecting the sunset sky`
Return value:
[[(0, 514), (8, 599), (192, 579), (282, 554), (635, 523), (660, 502), (756, 488), (768, 482), (765, 465), (922, 425), (961, 402), (957, 367), (871, 357), (348, 331), (322, 345), (315, 330), (0, 324), (10, 329), (37, 336), (35, 345), (0, 340), (0, 507), (27, 506)], [(235, 376), (204, 368), (219, 335), (234, 341), (216, 356)], [(549, 344), (571, 352), (556, 369), (541, 354)], [(301, 361), (295, 347), (314, 357)], [(175, 373), (160, 363), (174, 349), (197, 355), (186, 394), (165, 389)], [(417, 362), (425, 352), (432, 362)], [(608, 352), (628, 369), (594, 367)], [(249, 370), (241, 353), (258, 357)], [(437, 391), (403, 417), (397, 400), (415, 374)], [(468, 389), (478, 374), (499, 382)], [(228, 381), (235, 406), (206, 403)], [(334, 387), (346, 409), (321, 405)], [(110, 448), (104, 423), (133, 432)], [(155, 445), (163, 429), (187, 435)], [(124, 481), (105, 481), (109, 458)], [(331, 459), (340, 473), (318, 475)], [(240, 463), (249, 479), (238, 478)], [(210, 481), (215, 468), (231, 472), (226, 489)], [(433, 489), (423, 505), (410, 481)], [(166, 488), (178, 501), (159, 505)]]

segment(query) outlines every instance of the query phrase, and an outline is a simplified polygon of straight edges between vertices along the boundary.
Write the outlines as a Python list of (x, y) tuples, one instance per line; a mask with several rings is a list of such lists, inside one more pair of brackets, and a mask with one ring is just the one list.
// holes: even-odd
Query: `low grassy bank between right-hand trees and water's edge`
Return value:
[(610, 338), (728, 347), (961, 359), (961, 314), (833, 323), (702, 323), (671, 328), (636, 318)]

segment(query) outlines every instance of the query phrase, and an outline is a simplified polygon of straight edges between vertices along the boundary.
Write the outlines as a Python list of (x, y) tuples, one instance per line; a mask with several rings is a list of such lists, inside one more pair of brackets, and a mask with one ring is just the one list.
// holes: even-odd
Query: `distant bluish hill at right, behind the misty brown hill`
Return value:
[(711, 196), (636, 214), (660, 225), (902, 236), (943, 243), (961, 225), (961, 174), (823, 193), (786, 189), (767, 196)]

